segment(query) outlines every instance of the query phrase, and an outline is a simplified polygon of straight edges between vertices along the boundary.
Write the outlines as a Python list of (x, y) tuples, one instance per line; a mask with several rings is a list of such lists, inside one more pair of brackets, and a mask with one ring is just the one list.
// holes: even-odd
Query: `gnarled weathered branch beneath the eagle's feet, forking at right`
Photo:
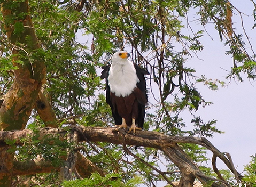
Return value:
[[(211, 150), (216, 156), (218, 156), (229, 168), (232, 168), (232, 163), (223, 155), (218, 149), (216, 149), (210, 142), (206, 139), (200, 139), (197, 137), (176, 137), (167, 136), (157, 132), (142, 131), (137, 132), (136, 136), (127, 134), (125, 139), (123, 134), (114, 131), (114, 128), (102, 128), (102, 127), (81, 127), (81, 126), (71, 126), (73, 131), (77, 132), (79, 137), (78, 141), (93, 141), (93, 142), (109, 142), (114, 144), (127, 144), (127, 145), (137, 145), (143, 147), (151, 147), (164, 151), (166, 156), (177, 165), (182, 173), (182, 178), (179, 186), (192, 186), (195, 178), (197, 178), (203, 185), (212, 186), (229, 186), (226, 181), (218, 180), (216, 178), (207, 177), (201, 172), (200, 169), (193, 163), (193, 161), (188, 157), (185, 152), (177, 145), (177, 143), (195, 143), (199, 144), (207, 149)], [(59, 130), (56, 128), (40, 128), (38, 129), (38, 134), (40, 138), (44, 135), (55, 135), (59, 134), (65, 138), (67, 132)], [(25, 129), (24, 131), (13, 131), (4, 132), (0, 131), (0, 143), (5, 139), (19, 140), (21, 138), (27, 137), (27, 135), (32, 135), (33, 132)], [(233, 169), (231, 172), (239, 174)], [(238, 177), (242, 177), (240, 174)], [(218, 183), (215, 183), (218, 182)]]

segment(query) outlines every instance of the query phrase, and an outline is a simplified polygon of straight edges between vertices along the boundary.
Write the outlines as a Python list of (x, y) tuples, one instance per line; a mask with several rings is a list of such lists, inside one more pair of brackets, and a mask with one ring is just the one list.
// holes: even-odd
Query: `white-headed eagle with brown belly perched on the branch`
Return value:
[(100, 78), (106, 79), (106, 102), (110, 105), (115, 127), (135, 135), (144, 124), (148, 103), (145, 75), (149, 72), (129, 61), (128, 57), (130, 54), (126, 51), (114, 53), (112, 64), (102, 67)]

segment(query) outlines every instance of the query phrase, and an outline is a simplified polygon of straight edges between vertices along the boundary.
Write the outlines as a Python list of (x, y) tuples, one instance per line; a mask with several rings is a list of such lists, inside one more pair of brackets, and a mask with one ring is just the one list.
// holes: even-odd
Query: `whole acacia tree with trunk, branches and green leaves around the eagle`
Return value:
[[(228, 77), (242, 80), (240, 74), (246, 73), (253, 79), (255, 55), (243, 42), (246, 32), (237, 34), (232, 28), (232, 12), (241, 14), (232, 2), (0, 2), (0, 186), (241, 182), (231, 157), (205, 138), (221, 133), (216, 121), (205, 123), (195, 113), (211, 104), (195, 83), (218, 88), (185, 66), (192, 53), (203, 50), (204, 31), (182, 32), (182, 20), (196, 9), (201, 25), (213, 22), (230, 48), (234, 66)], [(145, 131), (136, 136), (110, 128), (114, 123), (98, 76), (98, 69), (120, 49), (130, 51), (131, 60), (151, 73), (147, 82), (153, 101)], [(184, 131), (183, 110), (193, 118), (190, 131)], [(203, 164), (206, 149), (213, 152), (213, 170)], [(220, 172), (216, 158), (230, 171)]]

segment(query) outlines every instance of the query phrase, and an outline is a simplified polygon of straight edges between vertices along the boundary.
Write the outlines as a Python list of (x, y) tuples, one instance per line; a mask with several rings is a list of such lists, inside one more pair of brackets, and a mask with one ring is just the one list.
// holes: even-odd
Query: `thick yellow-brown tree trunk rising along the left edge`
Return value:
[[(0, 108), (0, 129), (11, 131), (26, 127), (45, 80), (45, 65), (43, 56), (34, 55), (40, 49), (40, 44), (32, 29), (28, 1), (4, 1), (1, 6), (4, 29), (12, 45), (13, 66), (18, 67), (14, 70), (14, 82)], [(23, 26), (20, 32), (14, 32), (17, 25)], [(23, 63), (18, 63), (20, 61)], [(13, 154), (8, 148), (1, 147), (0, 186), (11, 186)]]

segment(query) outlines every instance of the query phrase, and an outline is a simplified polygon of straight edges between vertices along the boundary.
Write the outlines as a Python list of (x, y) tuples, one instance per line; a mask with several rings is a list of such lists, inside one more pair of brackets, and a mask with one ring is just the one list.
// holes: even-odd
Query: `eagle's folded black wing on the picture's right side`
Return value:
[(145, 118), (145, 105), (148, 102), (148, 95), (146, 94), (146, 80), (145, 75), (149, 75), (149, 72), (140, 68), (136, 63), (134, 63), (136, 69), (136, 74), (139, 79), (137, 87), (142, 92), (142, 96), (138, 99), (138, 118), (135, 120), (135, 123), (138, 127), (143, 128), (144, 118)]

